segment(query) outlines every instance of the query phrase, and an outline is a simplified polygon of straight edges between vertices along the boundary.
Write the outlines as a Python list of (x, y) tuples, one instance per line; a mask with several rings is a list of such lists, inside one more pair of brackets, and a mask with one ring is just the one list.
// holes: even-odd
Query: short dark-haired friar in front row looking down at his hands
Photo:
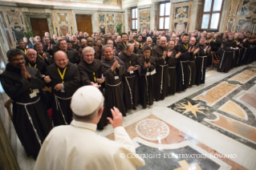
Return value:
[(151, 48), (146, 46), (143, 48), (143, 56), (140, 57), (140, 63), (142, 63), (140, 72), (140, 103), (143, 108), (153, 104), (154, 101), (154, 83), (153, 77), (156, 73), (155, 58), (151, 55)]

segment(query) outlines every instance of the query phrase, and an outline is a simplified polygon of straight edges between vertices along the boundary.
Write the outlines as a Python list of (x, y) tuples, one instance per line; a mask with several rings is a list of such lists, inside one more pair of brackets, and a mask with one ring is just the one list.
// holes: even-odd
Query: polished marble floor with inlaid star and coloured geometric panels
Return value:
[[(256, 170), (256, 63), (206, 73), (205, 84), (129, 111), (124, 127), (145, 170)], [(109, 124), (101, 136), (113, 140)], [(18, 141), (17, 141), (18, 142)], [(22, 155), (22, 169), (35, 161)]]

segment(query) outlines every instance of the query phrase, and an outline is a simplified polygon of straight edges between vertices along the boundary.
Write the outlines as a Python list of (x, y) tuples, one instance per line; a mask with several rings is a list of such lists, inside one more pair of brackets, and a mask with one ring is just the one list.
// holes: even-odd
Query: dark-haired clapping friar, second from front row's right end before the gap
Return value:
[(183, 34), (181, 41), (177, 42), (177, 52), (181, 56), (177, 59), (177, 92), (185, 91), (189, 87), (189, 63), (192, 48), (189, 45), (189, 34)]

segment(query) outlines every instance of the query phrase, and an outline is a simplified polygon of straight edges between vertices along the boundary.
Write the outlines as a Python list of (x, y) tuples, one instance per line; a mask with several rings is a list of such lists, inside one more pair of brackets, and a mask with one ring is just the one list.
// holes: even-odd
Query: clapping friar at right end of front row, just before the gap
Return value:
[(205, 45), (205, 38), (200, 38), (199, 44), (197, 44), (197, 50), (194, 54), (197, 55), (196, 59), (196, 85), (205, 83), (205, 70), (207, 65), (207, 54), (210, 47)]

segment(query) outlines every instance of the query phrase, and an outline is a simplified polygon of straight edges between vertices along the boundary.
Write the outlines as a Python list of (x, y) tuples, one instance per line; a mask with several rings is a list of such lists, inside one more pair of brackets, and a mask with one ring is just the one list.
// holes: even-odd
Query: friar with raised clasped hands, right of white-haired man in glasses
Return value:
[(108, 117), (112, 118), (112, 107), (117, 107), (123, 116), (126, 116), (123, 91), (122, 76), (125, 73), (124, 63), (121, 59), (113, 55), (113, 47), (105, 45), (103, 47), (104, 57), (100, 60), (104, 67), (105, 79), (105, 109)]

